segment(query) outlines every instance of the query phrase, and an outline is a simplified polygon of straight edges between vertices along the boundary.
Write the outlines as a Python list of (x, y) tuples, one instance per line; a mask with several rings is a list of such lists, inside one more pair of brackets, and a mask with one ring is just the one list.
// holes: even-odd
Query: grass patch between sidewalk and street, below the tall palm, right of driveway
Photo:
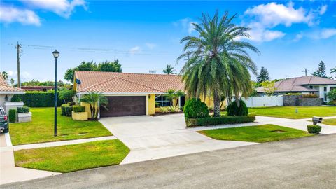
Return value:
[(312, 134), (278, 125), (258, 125), (248, 127), (232, 127), (226, 129), (203, 130), (201, 134), (213, 139), (225, 141), (269, 142), (285, 139), (308, 137)]

